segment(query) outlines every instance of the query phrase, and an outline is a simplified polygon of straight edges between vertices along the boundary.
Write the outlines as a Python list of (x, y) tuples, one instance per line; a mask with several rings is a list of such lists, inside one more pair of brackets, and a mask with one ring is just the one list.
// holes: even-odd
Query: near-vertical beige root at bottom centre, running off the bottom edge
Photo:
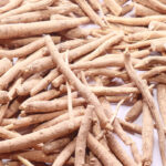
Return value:
[(93, 111), (94, 106), (87, 105), (87, 108), (85, 110), (85, 115), (79, 129), (75, 146), (75, 166), (85, 164), (86, 139), (89, 131), (91, 128)]

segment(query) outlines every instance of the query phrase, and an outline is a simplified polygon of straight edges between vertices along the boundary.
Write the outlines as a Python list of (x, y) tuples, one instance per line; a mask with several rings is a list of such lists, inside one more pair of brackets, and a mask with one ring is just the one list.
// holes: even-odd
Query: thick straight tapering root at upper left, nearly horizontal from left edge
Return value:
[[(58, 32), (65, 29), (74, 28), (83, 23), (87, 23), (89, 18), (77, 18), (72, 20), (59, 20), (58, 21), (41, 21), (41, 22), (32, 22), (32, 23), (20, 23), (20, 24), (3, 24), (0, 25), (0, 39), (11, 39), (18, 37), (31, 37)], [(21, 31), (20, 31), (21, 29)], [(8, 34), (8, 35), (7, 35)]]

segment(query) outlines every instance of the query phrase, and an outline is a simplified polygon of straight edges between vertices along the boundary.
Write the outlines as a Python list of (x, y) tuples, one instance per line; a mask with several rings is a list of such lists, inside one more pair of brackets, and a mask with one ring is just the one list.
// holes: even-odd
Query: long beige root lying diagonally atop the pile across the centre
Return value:
[(51, 52), (53, 61), (60, 68), (60, 71), (66, 76), (71, 85), (73, 85), (82, 94), (82, 96), (87, 100), (87, 103), (95, 106), (95, 112), (101, 121), (102, 126), (110, 128), (111, 126), (108, 125), (108, 121), (104, 112), (102, 112), (103, 107), (97, 97), (89, 89), (86, 89), (85, 85), (81, 83), (81, 81), (74, 75), (69, 66), (65, 66), (63, 59), (59, 55), (59, 51), (54, 46), (49, 35), (45, 38), (45, 42)]

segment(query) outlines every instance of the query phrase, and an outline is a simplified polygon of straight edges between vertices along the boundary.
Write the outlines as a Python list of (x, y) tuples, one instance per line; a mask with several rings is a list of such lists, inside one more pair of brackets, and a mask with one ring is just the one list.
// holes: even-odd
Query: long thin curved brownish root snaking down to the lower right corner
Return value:
[(144, 96), (144, 100), (147, 103), (147, 105), (152, 112), (153, 118), (157, 126), (162, 162), (164, 165), (166, 165), (165, 146), (164, 146), (165, 145), (164, 125), (160, 121), (160, 116), (156, 108), (156, 105), (154, 104), (153, 96), (152, 96), (149, 90), (147, 89), (146, 83), (141, 77), (137, 76), (137, 74), (131, 63), (129, 54), (127, 52), (125, 53), (125, 68), (126, 68), (128, 75), (131, 76), (131, 79), (135, 82), (135, 84), (142, 92), (142, 95)]

